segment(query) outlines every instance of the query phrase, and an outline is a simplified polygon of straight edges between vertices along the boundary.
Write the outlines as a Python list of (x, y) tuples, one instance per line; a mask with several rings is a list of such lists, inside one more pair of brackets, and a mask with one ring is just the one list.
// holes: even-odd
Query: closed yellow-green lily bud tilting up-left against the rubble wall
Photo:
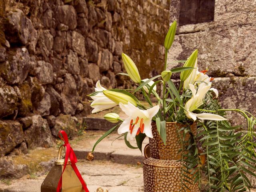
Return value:
[(130, 78), (134, 82), (140, 83), (140, 74), (139, 74), (138, 68), (136, 67), (132, 59), (128, 55), (122, 53), (122, 60), (124, 62), (124, 67), (128, 75), (130, 76)]

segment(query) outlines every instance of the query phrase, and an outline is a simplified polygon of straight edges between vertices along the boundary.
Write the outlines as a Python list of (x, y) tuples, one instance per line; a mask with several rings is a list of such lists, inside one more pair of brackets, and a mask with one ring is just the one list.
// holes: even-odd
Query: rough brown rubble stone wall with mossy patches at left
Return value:
[(160, 71), (169, 3), (1, 0), (0, 156), (49, 147), (60, 129), (74, 136), (97, 80), (107, 88), (132, 86), (115, 76), (124, 72), (122, 52), (143, 78)]

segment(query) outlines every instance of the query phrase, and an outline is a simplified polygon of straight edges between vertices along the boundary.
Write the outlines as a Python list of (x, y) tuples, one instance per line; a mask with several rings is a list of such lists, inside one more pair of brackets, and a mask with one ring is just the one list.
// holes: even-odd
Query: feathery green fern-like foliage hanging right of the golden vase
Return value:
[[(215, 111), (216, 114), (225, 116), (217, 101), (211, 94), (206, 95), (203, 110)], [(193, 135), (188, 127), (182, 128), (181, 136), (183, 149), (182, 160), (185, 162), (184, 172), (193, 172), (189, 179), (194, 182), (201, 181), (202, 174), (208, 178), (206, 192), (242, 192), (250, 190), (251, 183), (246, 174), (256, 176), (256, 153), (253, 139), (255, 133), (255, 117), (244, 110), (233, 110), (247, 120), (247, 128), (231, 126), (228, 121), (198, 121), (197, 134)], [(249, 117), (249, 116), (250, 117)], [(190, 132), (190, 140), (185, 141), (184, 135)], [(199, 148), (198, 148), (199, 146)], [(206, 158), (206, 163), (200, 165), (201, 155)], [(182, 178), (183, 188), (187, 186), (188, 178)]]

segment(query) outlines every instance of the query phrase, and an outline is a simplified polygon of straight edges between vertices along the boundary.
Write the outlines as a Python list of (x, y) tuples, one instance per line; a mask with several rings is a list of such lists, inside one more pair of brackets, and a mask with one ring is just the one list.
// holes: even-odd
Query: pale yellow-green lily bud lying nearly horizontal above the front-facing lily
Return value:
[(128, 102), (130, 102), (134, 106), (137, 106), (136, 101), (126, 94), (115, 92), (115, 91), (110, 91), (110, 90), (104, 90), (102, 92), (107, 98), (109, 98), (116, 104), (122, 103), (122, 104), (126, 105), (126, 104), (128, 104)]

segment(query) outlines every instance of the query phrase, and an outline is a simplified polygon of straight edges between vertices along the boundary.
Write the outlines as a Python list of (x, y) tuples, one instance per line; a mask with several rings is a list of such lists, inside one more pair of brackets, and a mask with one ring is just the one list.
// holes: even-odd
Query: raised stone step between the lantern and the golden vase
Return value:
[[(72, 148), (78, 159), (85, 159), (95, 142), (103, 134), (104, 132), (102, 131), (86, 131), (86, 134), (81, 136), (78, 141), (71, 141)], [(120, 164), (135, 165), (138, 161), (142, 162), (145, 159), (144, 154), (140, 150), (128, 148), (124, 142), (124, 137), (118, 138), (118, 136), (120, 135), (114, 132), (102, 140), (94, 150), (94, 160), (111, 160)], [(132, 140), (130, 144), (137, 146), (136, 140)], [(148, 138), (145, 138), (142, 144), (142, 151), (146, 144), (148, 144)]]

